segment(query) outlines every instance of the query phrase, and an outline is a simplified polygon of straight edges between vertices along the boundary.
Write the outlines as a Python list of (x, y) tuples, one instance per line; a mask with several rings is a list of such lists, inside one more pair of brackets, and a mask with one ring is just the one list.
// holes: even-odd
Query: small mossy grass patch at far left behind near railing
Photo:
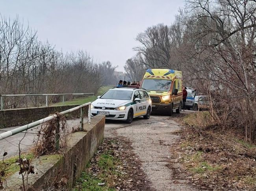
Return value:
[[(14, 173), (18, 172), (20, 170), (20, 166), (16, 164), (17, 159), (19, 156), (12, 156), (10, 158), (4, 159), (0, 161), (0, 170), (4, 170), (6, 176), (11, 176)], [(20, 156), (20, 158), (29, 159), (31, 160), (33, 158), (33, 153), (23, 154)]]

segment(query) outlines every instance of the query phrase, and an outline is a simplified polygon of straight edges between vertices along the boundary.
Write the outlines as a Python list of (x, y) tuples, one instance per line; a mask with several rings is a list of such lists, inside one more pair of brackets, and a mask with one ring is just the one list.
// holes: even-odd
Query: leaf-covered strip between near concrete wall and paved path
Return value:
[(73, 191), (149, 190), (145, 173), (124, 138), (105, 138)]

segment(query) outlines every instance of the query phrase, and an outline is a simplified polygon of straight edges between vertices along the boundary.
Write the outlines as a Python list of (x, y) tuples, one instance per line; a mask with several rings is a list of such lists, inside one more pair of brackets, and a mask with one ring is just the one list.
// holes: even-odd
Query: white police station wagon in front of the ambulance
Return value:
[(135, 86), (114, 87), (91, 104), (91, 116), (106, 115), (106, 119), (125, 120), (131, 123), (133, 118), (150, 118), (152, 101), (147, 91)]

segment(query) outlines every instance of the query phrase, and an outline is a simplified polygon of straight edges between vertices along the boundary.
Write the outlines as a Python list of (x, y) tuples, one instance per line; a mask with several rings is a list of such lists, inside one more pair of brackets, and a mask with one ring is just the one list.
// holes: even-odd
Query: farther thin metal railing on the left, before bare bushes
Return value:
[[(94, 98), (94, 93), (50, 93), (50, 94), (9, 94), (9, 95), (0, 95), (0, 110), (4, 109), (4, 97), (13, 97), (13, 96), (45, 96), (45, 106), (48, 107), (48, 96), (53, 95), (62, 95), (62, 104), (64, 106), (65, 95), (92, 95)], [(92, 99), (93, 99), (92, 98)]]

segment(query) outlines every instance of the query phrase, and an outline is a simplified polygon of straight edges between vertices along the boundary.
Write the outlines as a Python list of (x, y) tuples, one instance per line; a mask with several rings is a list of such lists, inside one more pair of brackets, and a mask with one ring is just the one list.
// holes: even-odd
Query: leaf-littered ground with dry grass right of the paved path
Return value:
[[(256, 145), (245, 141), (236, 128), (223, 130), (211, 123), (208, 111), (183, 118), (186, 128), (173, 145), (174, 177), (200, 189), (255, 190)], [(175, 168), (175, 164), (182, 164)]]

